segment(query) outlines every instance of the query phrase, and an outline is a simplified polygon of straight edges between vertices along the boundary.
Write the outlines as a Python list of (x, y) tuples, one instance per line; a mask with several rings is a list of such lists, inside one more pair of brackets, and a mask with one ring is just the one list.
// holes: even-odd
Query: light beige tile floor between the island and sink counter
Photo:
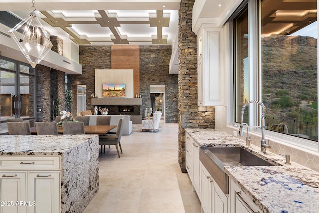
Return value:
[(178, 124), (161, 121), (159, 132), (124, 135), (121, 145), (121, 158), (115, 146), (100, 154), (99, 191), (84, 213), (201, 212), (178, 164)]

